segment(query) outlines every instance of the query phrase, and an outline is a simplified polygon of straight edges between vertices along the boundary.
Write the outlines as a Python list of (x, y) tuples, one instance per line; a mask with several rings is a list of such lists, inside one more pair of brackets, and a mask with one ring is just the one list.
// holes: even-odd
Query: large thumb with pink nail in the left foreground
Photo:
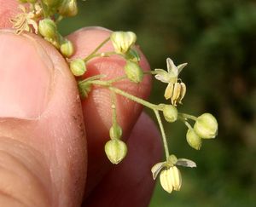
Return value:
[(0, 204), (79, 206), (86, 175), (75, 80), (43, 39), (0, 31)]

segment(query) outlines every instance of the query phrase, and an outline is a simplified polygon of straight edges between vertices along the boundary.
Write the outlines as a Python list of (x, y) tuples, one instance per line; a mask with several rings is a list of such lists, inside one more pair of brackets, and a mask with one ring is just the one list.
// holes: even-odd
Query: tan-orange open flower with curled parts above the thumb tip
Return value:
[[(41, 6), (36, 3), (33, 11), (29, 11), (25, 6), (19, 5), (21, 11), (20, 14), (17, 14), (15, 18), (10, 21), (13, 23), (13, 28), (15, 28), (16, 33), (20, 34), (21, 32), (32, 32), (32, 28), (35, 33), (38, 33), (38, 23), (37, 18), (42, 14)], [(32, 26), (32, 27), (31, 27)]]

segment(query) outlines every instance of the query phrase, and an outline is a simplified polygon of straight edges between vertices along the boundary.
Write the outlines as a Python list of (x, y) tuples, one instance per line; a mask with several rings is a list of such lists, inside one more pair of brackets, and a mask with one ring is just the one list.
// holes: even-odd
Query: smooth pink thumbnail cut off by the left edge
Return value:
[(53, 66), (32, 38), (0, 32), (0, 118), (38, 118), (49, 101)]

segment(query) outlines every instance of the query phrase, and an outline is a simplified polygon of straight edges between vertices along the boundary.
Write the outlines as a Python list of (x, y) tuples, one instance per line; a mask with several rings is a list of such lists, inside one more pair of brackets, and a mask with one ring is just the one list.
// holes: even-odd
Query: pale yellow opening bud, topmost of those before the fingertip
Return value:
[(136, 42), (137, 37), (134, 32), (113, 32), (110, 39), (115, 52), (125, 54)]

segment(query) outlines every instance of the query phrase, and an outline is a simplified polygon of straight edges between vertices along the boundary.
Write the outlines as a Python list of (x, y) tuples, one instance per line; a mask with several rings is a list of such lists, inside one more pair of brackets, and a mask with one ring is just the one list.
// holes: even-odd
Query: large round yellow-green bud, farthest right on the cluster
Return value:
[(196, 119), (195, 133), (204, 139), (212, 139), (218, 134), (218, 122), (211, 113), (204, 113)]

